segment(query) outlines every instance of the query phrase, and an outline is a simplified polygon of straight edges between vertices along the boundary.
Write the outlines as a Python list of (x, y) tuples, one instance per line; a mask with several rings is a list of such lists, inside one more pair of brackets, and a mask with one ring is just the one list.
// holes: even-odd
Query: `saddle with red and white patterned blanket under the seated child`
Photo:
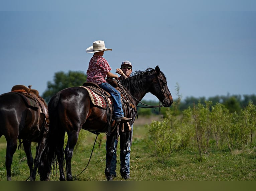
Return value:
[[(122, 85), (120, 84), (120, 82), (118, 82), (116, 79), (107, 79), (107, 82), (120, 92), (121, 103), (123, 106), (124, 115), (126, 117), (131, 117), (131, 113), (132, 113), (132, 111), (130, 111), (131, 109), (133, 109), (137, 115), (136, 106), (134, 106), (132, 103), (129, 102), (128, 96), (126, 93), (124, 93), (125, 91), (124, 91)], [(106, 111), (107, 111), (107, 119), (108, 119), (107, 134), (108, 135), (110, 135), (110, 133), (113, 132), (115, 129), (117, 130), (117, 133), (119, 135), (119, 126), (121, 126), (122, 132), (131, 131), (131, 126), (130, 126), (129, 122), (116, 122), (112, 118), (114, 107), (112, 104), (112, 97), (108, 92), (104, 91), (97, 84), (92, 83), (92, 82), (86, 82), (83, 84), (82, 87), (87, 89), (94, 105), (100, 106), (100, 104), (102, 104), (105, 106), (105, 107), (102, 106), (102, 108), (106, 109)], [(97, 98), (95, 98), (95, 97), (97, 97)], [(98, 100), (98, 101), (95, 101), (95, 100)], [(97, 102), (98, 104), (95, 104), (95, 102)], [(99, 102), (100, 102), (100, 104), (99, 104)]]

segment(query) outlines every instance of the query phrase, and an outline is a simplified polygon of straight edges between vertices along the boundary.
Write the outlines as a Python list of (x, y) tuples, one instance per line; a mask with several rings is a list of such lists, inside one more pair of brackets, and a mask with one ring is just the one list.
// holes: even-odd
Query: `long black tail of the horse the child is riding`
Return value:
[[(57, 105), (59, 102), (60, 94), (53, 95), (48, 103), (49, 112), (49, 131), (45, 140), (45, 148), (41, 157), (41, 164), (38, 167), (38, 173), (41, 180), (49, 180), (51, 170), (53, 171), (56, 163), (56, 149), (57, 144), (60, 144), (61, 137), (58, 136), (58, 112)], [(63, 157), (62, 157), (63, 158)], [(64, 164), (62, 162), (62, 164)]]

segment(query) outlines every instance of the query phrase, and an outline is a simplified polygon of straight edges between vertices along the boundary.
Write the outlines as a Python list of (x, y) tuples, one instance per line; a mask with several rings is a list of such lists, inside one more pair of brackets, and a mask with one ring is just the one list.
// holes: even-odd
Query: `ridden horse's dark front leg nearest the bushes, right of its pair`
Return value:
[(127, 153), (127, 141), (130, 132), (120, 132), (120, 174), (124, 179), (127, 179), (128, 174), (125, 170), (125, 157)]

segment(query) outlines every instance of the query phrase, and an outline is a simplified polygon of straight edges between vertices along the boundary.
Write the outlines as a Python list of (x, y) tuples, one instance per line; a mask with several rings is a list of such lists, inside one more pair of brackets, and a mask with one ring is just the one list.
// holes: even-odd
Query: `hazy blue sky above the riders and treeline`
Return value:
[(0, 94), (21, 84), (42, 95), (54, 73), (86, 73), (96, 40), (113, 49), (112, 72), (159, 65), (174, 99), (176, 83), (183, 98), (256, 94), (254, 0), (1, 0)]

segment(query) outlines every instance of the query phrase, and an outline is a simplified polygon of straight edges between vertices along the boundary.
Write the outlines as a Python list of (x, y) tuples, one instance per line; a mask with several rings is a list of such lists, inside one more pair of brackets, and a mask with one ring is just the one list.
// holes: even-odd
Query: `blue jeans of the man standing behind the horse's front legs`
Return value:
[[(130, 152), (131, 152), (131, 140), (132, 140), (132, 133), (133, 133), (133, 124), (131, 125), (131, 132), (126, 143), (126, 155), (125, 155), (125, 172), (127, 175), (130, 175)], [(117, 149), (118, 140), (115, 139), (114, 147), (113, 147), (113, 157), (110, 163), (110, 175), (116, 176), (116, 149)], [(106, 144), (107, 146), (107, 144)], [(107, 147), (106, 147), (107, 149)]]

